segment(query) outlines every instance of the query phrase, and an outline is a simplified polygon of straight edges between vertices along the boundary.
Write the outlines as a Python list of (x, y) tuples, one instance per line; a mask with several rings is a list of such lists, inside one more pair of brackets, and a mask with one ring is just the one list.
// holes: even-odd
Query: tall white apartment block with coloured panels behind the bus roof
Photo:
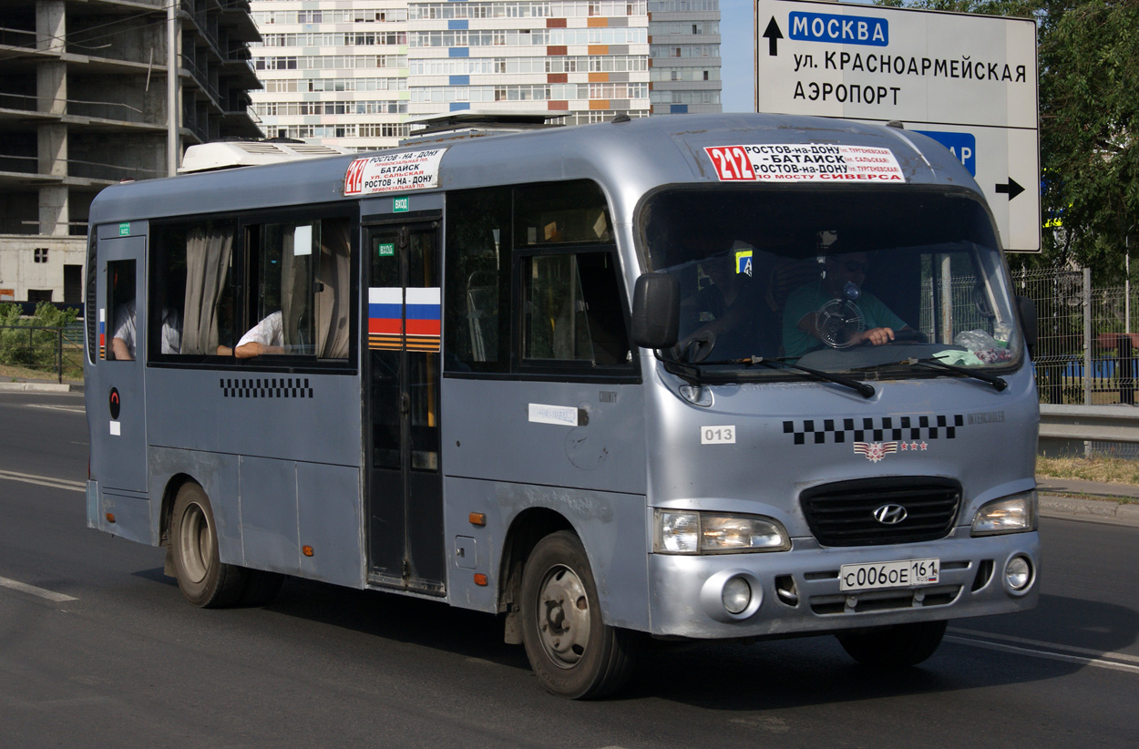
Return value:
[(252, 7), (264, 84), (254, 109), (269, 135), (372, 150), (407, 137), (409, 120), (445, 113), (543, 112), (580, 124), (721, 110), (719, 0)]

